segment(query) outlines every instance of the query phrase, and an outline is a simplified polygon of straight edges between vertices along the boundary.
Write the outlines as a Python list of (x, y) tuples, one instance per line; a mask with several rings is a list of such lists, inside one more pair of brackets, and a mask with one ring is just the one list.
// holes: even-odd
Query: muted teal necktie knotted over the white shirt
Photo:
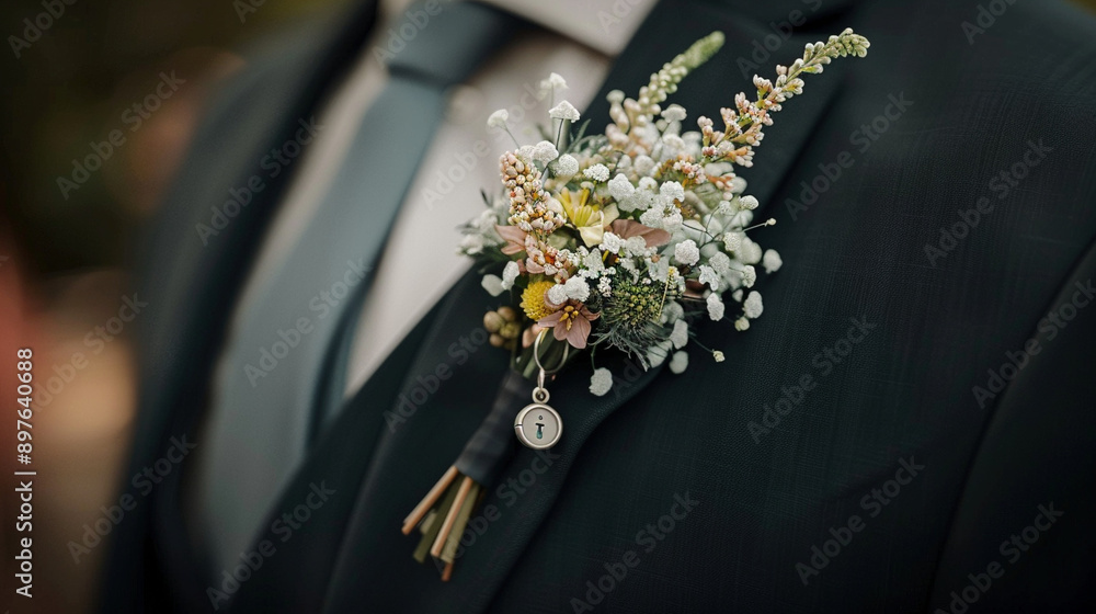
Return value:
[[(196, 528), (215, 572), (237, 561), (304, 458), (316, 423), (341, 405), (369, 272), (445, 113), (446, 89), (525, 23), (475, 3), (433, 10), (413, 7), (404, 15), (419, 20), (391, 25), (406, 47), (384, 49), (385, 89), (320, 209), (226, 340), (194, 491)], [(435, 248), (423, 249), (425, 258)]]

